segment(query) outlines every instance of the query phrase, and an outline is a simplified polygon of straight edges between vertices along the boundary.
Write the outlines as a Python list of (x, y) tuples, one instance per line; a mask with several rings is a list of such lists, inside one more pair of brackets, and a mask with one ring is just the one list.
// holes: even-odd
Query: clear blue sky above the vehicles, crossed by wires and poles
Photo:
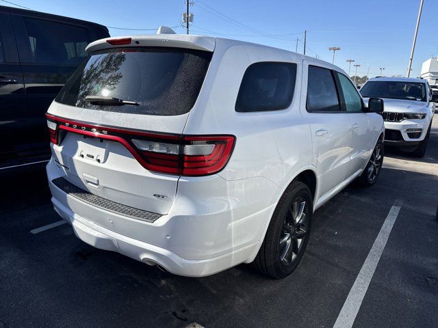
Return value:
[[(91, 20), (109, 27), (154, 29), (180, 25), (184, 0), (11, 0), (41, 12)], [(0, 4), (9, 5), (0, 0)], [(192, 33), (236, 38), (302, 53), (307, 29), (307, 55), (331, 61), (329, 46), (340, 46), (335, 64), (348, 71), (346, 59), (361, 64), (358, 75), (368, 72), (405, 75), (420, 0), (293, 0), (211, 1), (194, 0)], [(12, 5), (11, 5), (12, 6)], [(422, 62), (438, 53), (438, 1), (424, 0), (415, 47), (413, 73), (420, 75)], [(185, 33), (183, 27), (175, 29)], [(112, 36), (154, 33), (111, 29)], [(355, 63), (355, 64), (356, 64)], [(352, 68), (351, 74), (354, 73)]]

